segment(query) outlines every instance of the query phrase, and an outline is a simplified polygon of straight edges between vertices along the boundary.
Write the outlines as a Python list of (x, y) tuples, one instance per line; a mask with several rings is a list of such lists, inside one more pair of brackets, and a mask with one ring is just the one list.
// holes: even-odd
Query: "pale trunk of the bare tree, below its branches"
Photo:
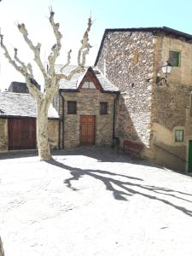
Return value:
[(38, 102), (37, 117), (37, 139), (38, 139), (38, 155), (41, 160), (50, 160), (49, 135), (48, 135), (48, 104), (46, 102)]

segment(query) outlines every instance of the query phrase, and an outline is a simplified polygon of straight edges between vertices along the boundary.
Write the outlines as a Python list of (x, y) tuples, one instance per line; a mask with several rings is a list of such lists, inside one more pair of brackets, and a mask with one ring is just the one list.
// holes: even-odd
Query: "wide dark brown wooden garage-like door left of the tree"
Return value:
[(9, 150), (36, 148), (36, 119), (8, 119)]

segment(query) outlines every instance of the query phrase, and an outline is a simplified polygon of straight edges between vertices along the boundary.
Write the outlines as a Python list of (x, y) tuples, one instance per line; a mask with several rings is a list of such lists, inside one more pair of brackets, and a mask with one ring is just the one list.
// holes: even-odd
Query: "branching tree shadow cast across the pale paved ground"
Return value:
[[(170, 199), (172, 198), (192, 203), (191, 194), (174, 189), (166, 189), (163, 187), (145, 185), (143, 184), (144, 180), (138, 177), (131, 177), (102, 170), (76, 168), (72, 166), (67, 166), (53, 159), (47, 162), (50, 165), (58, 166), (70, 172), (72, 177), (67, 178), (66, 180), (64, 180), (63, 183), (67, 184), (67, 187), (73, 189), (74, 191), (77, 191), (79, 189), (73, 187), (73, 181), (79, 181), (80, 178), (83, 177), (93, 177), (96, 180), (101, 181), (105, 185), (105, 188), (112, 192), (113, 198), (115, 200), (128, 201), (129, 196), (142, 195), (145, 198), (154, 201), (160, 201), (170, 207), (177, 209), (178, 211), (183, 212), (186, 215), (192, 216), (192, 209), (189, 210), (186, 207), (181, 207), (168, 199), (160, 198), (160, 195), (166, 195), (169, 196)], [(141, 189), (143, 190), (143, 192), (140, 191)], [(153, 193), (154, 195), (150, 195), (151, 193)], [(191, 201), (184, 198), (184, 196), (186, 195), (191, 196)]]

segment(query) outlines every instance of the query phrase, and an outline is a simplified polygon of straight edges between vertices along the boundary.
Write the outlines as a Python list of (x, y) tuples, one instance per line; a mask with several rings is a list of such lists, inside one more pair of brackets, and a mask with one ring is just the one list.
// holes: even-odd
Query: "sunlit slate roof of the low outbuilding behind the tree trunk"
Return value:
[[(36, 102), (30, 94), (0, 92), (0, 117), (37, 117)], [(55, 108), (49, 107), (49, 119), (58, 119)]]

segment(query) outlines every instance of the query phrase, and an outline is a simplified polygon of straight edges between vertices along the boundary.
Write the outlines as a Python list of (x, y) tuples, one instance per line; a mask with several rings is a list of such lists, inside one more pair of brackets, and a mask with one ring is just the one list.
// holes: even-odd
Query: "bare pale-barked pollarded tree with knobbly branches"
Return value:
[[(88, 26), (86, 31), (84, 32), (83, 39), (81, 40), (81, 47), (79, 49), (78, 55), (78, 67), (73, 69), (69, 74), (59, 74), (55, 73), (55, 61), (56, 58), (60, 55), (61, 51), (61, 32), (59, 31), (60, 24), (55, 23), (54, 20), (55, 13), (52, 8), (49, 9), (49, 23), (53, 28), (53, 32), (55, 34), (56, 42), (51, 48), (51, 53), (48, 56), (49, 67), (46, 69), (43, 65), (43, 62), (40, 58), (40, 50), (41, 44), (38, 43), (34, 45), (32, 40), (28, 36), (28, 32), (25, 24), (18, 24), (18, 29), (22, 34), (26, 44), (32, 49), (34, 54), (34, 61), (37, 63), (39, 70), (43, 74), (44, 77), (44, 92), (38, 90), (38, 82), (33, 76), (32, 72), (32, 64), (28, 63), (27, 65), (20, 61), (18, 57), (18, 49), (15, 49), (14, 58), (11, 57), (7, 47), (3, 44), (3, 35), (0, 34), (1, 47), (4, 50), (5, 57), (9, 60), (9, 62), (15, 67), (15, 69), (20, 72), (25, 80), (26, 86), (29, 89), (30, 94), (33, 98), (35, 98), (37, 103), (37, 139), (38, 139), (38, 154), (42, 160), (49, 160), (51, 158), (50, 150), (49, 150), (49, 137), (48, 137), (48, 108), (50, 103), (53, 101), (53, 97), (58, 90), (58, 84), (61, 79), (71, 79), (75, 73), (82, 72), (84, 70), (84, 64), (86, 60), (86, 55), (88, 55), (90, 51), (90, 43), (89, 43), (89, 32), (90, 27), (92, 25), (92, 20), (89, 18)], [(71, 50), (67, 55), (67, 63), (63, 66), (67, 67), (69, 65), (71, 59)], [(63, 69), (61, 68), (61, 70)]]

